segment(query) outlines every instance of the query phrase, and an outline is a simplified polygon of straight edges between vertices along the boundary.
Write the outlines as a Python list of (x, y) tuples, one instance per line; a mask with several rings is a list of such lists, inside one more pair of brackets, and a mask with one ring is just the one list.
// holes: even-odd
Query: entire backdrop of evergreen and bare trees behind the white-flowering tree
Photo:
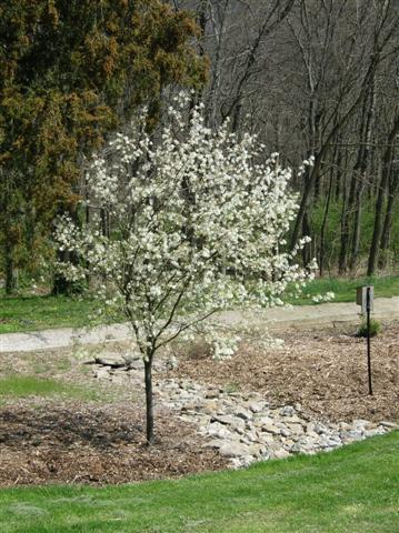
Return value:
[(157, 123), (181, 87), (194, 88), (209, 128), (228, 119), (239, 137), (258, 135), (262, 161), (278, 152), (295, 170), (288, 248), (310, 235), (305, 263), (316, 257), (320, 275), (395, 270), (398, 17), (395, 0), (3, 1), (6, 292), (17, 272), (53, 273), (53, 220), (82, 217), (76, 202), (93, 151), (140, 103)]

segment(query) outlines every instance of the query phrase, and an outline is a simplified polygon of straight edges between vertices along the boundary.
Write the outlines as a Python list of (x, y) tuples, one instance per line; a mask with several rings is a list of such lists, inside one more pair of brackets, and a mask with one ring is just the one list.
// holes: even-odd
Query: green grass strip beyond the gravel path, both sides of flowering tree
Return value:
[[(375, 295), (399, 295), (399, 275), (371, 279), (318, 279), (305, 289), (305, 296), (288, 301), (293, 304), (312, 304), (312, 295), (329, 291), (336, 293), (336, 302), (355, 301), (356, 288), (375, 285)], [(79, 328), (88, 325), (89, 315), (96, 310), (93, 300), (67, 296), (0, 298), (0, 334), (16, 331), (34, 331), (48, 328)], [(123, 320), (122, 316), (119, 319)], [(96, 322), (91, 321), (91, 324)]]

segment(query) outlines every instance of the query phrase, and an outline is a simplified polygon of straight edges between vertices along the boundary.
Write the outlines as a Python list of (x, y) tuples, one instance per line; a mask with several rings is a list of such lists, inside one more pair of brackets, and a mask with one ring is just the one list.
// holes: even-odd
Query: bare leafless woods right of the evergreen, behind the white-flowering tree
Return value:
[[(315, 167), (292, 175), (301, 198), (292, 242), (312, 234), (306, 257), (317, 254), (320, 272), (366, 271), (388, 119), (398, 100), (398, 2), (172, 3), (201, 13), (198, 46), (210, 57), (202, 93), (208, 123), (231, 117), (233, 130), (256, 132), (267, 151), (281, 152), (293, 167), (315, 155)], [(393, 198), (387, 202), (395, 211)], [(391, 231), (399, 235), (396, 218)], [(391, 253), (382, 258), (398, 254), (398, 238), (389, 242)]]

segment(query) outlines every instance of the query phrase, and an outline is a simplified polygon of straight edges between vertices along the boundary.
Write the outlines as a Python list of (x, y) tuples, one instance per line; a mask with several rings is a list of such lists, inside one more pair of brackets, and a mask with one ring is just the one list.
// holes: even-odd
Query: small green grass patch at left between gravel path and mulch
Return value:
[(96, 391), (48, 378), (10, 375), (0, 379), (0, 400), (29, 396), (67, 396), (80, 400), (97, 399)]

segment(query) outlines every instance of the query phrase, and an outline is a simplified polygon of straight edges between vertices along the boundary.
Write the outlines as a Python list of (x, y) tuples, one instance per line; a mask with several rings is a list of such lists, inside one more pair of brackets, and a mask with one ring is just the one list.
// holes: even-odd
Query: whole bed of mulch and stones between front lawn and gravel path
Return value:
[[(0, 484), (179, 476), (330, 451), (391, 431), (398, 422), (399, 325), (387, 324), (372, 341), (372, 396), (365, 341), (352, 330), (287, 329), (279, 333), (282, 349), (259, 353), (243, 344), (219, 363), (200, 344), (160, 358), (158, 440), (150, 449), (143, 438), (142, 362), (127, 359), (123, 346), (96, 353), (84, 361), (84, 380), (119, 392), (120, 399), (100, 405), (7, 402), (0, 409)], [(27, 365), (29, 356), (21, 358)], [(82, 379), (73, 369), (67, 376)]]

